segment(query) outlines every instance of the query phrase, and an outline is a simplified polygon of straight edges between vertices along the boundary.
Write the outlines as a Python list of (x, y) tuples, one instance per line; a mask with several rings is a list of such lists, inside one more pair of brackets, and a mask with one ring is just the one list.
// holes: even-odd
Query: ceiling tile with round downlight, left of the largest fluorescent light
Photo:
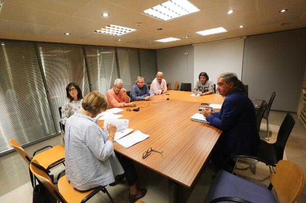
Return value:
[[(103, 12), (109, 13), (110, 16), (103, 17), (101, 15)], [(135, 13), (133, 11), (115, 6), (111, 3), (102, 0), (94, 0), (82, 7), (76, 14), (74, 14), (74, 16), (114, 24), (114, 22), (126, 19), (134, 14)]]

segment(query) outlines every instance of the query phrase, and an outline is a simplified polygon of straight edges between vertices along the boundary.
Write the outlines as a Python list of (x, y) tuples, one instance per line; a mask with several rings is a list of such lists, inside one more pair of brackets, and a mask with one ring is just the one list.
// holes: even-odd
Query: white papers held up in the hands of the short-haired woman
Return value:
[(107, 124), (112, 123), (117, 127), (117, 131), (114, 137), (114, 141), (128, 135), (133, 129), (128, 128), (128, 119), (107, 119), (104, 120), (103, 128), (106, 135), (108, 135)]

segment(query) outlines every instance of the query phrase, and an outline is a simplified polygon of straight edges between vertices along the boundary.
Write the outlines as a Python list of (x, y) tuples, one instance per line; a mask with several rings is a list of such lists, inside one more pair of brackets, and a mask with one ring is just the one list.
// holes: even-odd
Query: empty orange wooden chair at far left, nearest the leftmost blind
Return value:
[[(14, 147), (17, 153), (26, 161), (27, 164), (30, 164), (32, 159), (36, 159), (38, 163), (43, 166), (46, 170), (50, 170), (51, 168), (59, 165), (60, 163), (64, 164), (65, 161), (65, 148), (63, 145), (56, 145), (54, 147), (48, 145), (41, 149), (36, 150), (33, 153), (33, 158), (31, 158), (26, 150), (24, 150), (19, 142), (16, 139), (10, 139), (10, 145)], [(48, 149), (50, 148), (50, 149)], [(45, 150), (47, 149), (47, 150)], [(44, 150), (44, 151), (43, 151)], [(38, 153), (40, 152), (40, 153)], [(64, 164), (65, 165), (65, 164)], [(50, 172), (50, 171), (49, 171)], [(33, 176), (30, 173), (30, 179), (32, 186), (34, 186)]]

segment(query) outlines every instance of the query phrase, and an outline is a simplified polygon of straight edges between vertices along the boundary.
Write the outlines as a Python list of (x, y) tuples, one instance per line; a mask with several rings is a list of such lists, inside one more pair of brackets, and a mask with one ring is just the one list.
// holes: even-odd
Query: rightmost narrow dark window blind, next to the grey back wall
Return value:
[(155, 50), (139, 50), (139, 61), (141, 75), (147, 83), (152, 83), (156, 75), (156, 51)]

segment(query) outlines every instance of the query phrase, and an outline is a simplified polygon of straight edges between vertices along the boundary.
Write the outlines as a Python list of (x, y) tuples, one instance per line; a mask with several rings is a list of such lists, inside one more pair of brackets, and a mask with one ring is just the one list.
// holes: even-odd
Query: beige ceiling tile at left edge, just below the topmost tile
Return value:
[(3, 5), (0, 13), (0, 19), (3, 20), (49, 26), (55, 26), (56, 24), (62, 22), (65, 18), (67, 18), (65, 15), (55, 14), (49, 11), (42, 11), (7, 2), (5, 2)]

